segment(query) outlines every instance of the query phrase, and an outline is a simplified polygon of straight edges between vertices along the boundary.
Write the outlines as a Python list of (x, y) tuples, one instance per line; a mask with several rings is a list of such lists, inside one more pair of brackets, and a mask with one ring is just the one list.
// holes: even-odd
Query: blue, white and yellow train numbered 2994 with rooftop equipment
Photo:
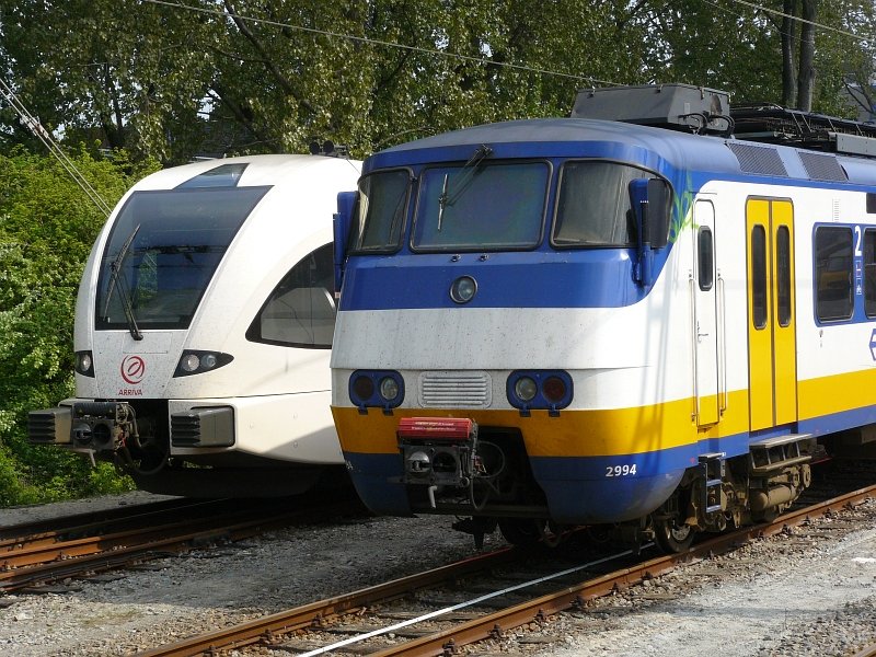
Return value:
[(365, 503), (679, 551), (873, 453), (872, 136), (666, 85), (372, 155), (332, 353)]

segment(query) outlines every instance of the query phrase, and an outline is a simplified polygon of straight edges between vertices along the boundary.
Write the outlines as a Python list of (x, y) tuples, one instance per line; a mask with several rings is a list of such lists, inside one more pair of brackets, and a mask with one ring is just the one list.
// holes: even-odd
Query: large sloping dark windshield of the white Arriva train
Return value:
[(268, 187), (136, 192), (101, 258), (97, 330), (187, 328), (229, 244)]

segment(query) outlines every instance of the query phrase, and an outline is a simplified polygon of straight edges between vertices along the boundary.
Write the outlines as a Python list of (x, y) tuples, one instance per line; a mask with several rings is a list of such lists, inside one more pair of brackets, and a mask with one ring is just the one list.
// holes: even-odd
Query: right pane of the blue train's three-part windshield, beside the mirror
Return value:
[(632, 246), (635, 217), (630, 181), (657, 177), (616, 162), (566, 162), (552, 242), (556, 246)]

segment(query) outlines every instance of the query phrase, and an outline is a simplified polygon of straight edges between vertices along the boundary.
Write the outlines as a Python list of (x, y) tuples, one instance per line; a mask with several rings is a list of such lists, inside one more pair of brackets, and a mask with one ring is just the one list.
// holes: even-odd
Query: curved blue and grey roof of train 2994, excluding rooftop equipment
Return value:
[(868, 158), (590, 118), (511, 120), (445, 132), (381, 151), (364, 172), (464, 161), (484, 143), (494, 158), (603, 157), (657, 171), (876, 185), (876, 160)]

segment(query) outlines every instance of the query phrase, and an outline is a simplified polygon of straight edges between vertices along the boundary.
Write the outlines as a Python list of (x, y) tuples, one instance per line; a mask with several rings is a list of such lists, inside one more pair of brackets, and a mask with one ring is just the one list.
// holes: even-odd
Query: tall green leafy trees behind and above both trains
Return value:
[[(833, 111), (845, 69), (873, 66), (842, 32), (872, 34), (873, 11), (866, 0), (0, 0), (0, 62), (49, 129), (135, 158), (300, 152), (322, 139), (361, 157), (562, 116), (578, 87), (604, 83), (794, 104), (798, 81), (814, 81), (812, 106)], [(800, 51), (812, 28), (814, 78)], [(10, 142), (27, 140), (8, 110), (0, 119)]]

